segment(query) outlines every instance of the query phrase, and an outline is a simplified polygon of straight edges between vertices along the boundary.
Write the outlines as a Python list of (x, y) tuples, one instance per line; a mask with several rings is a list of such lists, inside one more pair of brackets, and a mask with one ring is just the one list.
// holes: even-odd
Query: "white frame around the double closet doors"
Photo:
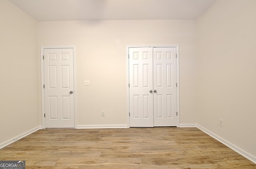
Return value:
[(177, 127), (180, 127), (180, 66), (179, 66), (179, 45), (127, 45), (126, 46), (126, 95), (127, 95), (127, 126), (130, 127), (130, 102), (129, 102), (129, 48), (145, 48), (145, 47), (156, 47), (156, 48), (176, 48), (177, 60), (176, 60), (176, 92), (177, 92)]

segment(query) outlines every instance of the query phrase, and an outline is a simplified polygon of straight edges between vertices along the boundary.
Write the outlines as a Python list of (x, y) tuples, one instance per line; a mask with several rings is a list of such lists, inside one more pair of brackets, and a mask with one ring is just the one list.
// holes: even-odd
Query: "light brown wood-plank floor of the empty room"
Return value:
[(26, 169), (256, 169), (197, 128), (42, 129), (0, 149)]

